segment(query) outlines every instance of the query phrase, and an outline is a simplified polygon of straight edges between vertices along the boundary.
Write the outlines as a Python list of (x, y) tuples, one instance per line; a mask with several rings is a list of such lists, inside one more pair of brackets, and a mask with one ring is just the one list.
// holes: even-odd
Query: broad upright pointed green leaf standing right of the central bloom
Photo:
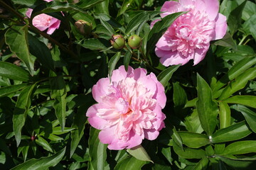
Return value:
[(213, 101), (212, 91), (207, 82), (197, 74), (198, 101), (196, 109), (203, 130), (212, 135), (217, 125), (218, 104)]

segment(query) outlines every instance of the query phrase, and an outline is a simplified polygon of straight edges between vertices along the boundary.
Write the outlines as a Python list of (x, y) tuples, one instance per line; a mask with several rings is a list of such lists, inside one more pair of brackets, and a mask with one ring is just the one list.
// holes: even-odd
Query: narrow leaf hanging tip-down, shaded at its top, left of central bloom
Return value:
[[(50, 72), (50, 76), (56, 76), (55, 73)], [(66, 116), (66, 101), (67, 91), (65, 89), (65, 81), (62, 76), (54, 77), (50, 79), (50, 97), (54, 99), (53, 108), (55, 109), (55, 115), (60, 122), (61, 130), (65, 127)]]

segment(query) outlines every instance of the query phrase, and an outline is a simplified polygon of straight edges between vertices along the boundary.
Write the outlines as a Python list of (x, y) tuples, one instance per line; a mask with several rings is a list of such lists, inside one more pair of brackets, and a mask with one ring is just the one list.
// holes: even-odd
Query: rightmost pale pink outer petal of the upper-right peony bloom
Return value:
[(224, 35), (227, 33), (227, 18), (223, 16), (223, 14), (219, 13), (217, 18), (215, 19), (216, 26), (215, 26), (215, 39), (219, 40), (224, 37)]

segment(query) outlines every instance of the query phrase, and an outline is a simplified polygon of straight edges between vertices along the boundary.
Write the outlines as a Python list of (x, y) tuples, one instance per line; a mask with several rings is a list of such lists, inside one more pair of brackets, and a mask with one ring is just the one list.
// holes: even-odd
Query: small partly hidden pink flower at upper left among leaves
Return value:
[[(44, 0), (44, 1), (50, 2), (53, 0)], [(33, 9), (31, 8), (28, 8), (28, 11), (26, 11), (26, 16), (28, 16), (28, 18), (31, 17), (32, 11)], [(33, 26), (38, 28), (38, 30), (41, 30), (41, 31), (48, 29), (47, 33), (50, 35), (60, 27), (60, 20), (52, 16), (48, 16), (45, 13), (41, 13), (38, 16), (35, 16), (33, 18), (32, 24)]]

